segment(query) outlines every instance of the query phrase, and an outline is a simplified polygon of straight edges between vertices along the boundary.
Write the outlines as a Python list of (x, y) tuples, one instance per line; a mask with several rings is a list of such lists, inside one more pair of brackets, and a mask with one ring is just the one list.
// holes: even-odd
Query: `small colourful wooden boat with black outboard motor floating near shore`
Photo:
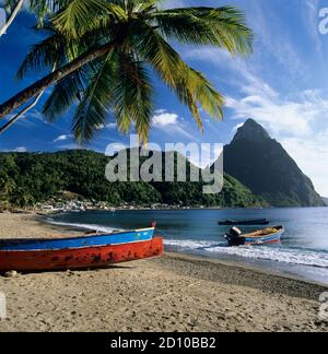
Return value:
[(242, 234), (234, 227), (230, 234), (225, 235), (230, 246), (257, 246), (267, 244), (278, 244), (284, 233), (283, 226), (268, 227), (251, 234)]

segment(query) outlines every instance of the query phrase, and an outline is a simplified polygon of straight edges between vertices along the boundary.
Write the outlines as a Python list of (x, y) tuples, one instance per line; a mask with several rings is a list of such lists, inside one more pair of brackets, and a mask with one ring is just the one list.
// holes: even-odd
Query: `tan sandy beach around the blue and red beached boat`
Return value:
[[(67, 229), (35, 215), (0, 214), (0, 238)], [(328, 331), (318, 319), (328, 287), (207, 259), (160, 259), (93, 271), (0, 278), (0, 331)]]

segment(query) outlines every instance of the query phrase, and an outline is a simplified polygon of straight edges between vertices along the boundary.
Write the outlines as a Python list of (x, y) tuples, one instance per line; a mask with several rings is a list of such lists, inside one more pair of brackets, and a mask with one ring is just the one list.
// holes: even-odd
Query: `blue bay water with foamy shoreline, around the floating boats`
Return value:
[[(280, 245), (227, 247), (220, 220), (269, 219), (284, 225)], [(328, 284), (328, 208), (180, 211), (90, 211), (63, 213), (48, 222), (101, 232), (147, 227), (157, 222), (166, 250), (260, 267)], [(261, 226), (242, 226), (250, 232)]]

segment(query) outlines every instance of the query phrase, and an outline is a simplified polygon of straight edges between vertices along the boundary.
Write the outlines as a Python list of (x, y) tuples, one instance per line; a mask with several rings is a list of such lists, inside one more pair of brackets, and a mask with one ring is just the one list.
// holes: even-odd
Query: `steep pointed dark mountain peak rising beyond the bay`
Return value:
[(273, 206), (325, 204), (283, 146), (253, 119), (224, 146), (224, 172)]

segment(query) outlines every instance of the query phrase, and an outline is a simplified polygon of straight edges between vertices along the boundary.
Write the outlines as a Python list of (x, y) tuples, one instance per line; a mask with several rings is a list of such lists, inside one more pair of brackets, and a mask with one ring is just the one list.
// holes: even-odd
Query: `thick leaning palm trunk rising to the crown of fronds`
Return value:
[(0, 119), (3, 119), (10, 111), (12, 111), (15, 108), (19, 108), (20, 106), (28, 102), (28, 99), (37, 96), (39, 93), (45, 91), (48, 86), (57, 83), (59, 80), (66, 78), (67, 75), (74, 72), (75, 70), (85, 66), (86, 63), (93, 61), (94, 59), (104, 56), (110, 49), (114, 49), (119, 44), (117, 42), (110, 42), (103, 46), (90, 49), (89, 51), (81, 55), (72, 62), (66, 64), (65, 67), (38, 80), (27, 88), (21, 91), (19, 94), (16, 94), (12, 98), (8, 99), (2, 105), (0, 105)]

